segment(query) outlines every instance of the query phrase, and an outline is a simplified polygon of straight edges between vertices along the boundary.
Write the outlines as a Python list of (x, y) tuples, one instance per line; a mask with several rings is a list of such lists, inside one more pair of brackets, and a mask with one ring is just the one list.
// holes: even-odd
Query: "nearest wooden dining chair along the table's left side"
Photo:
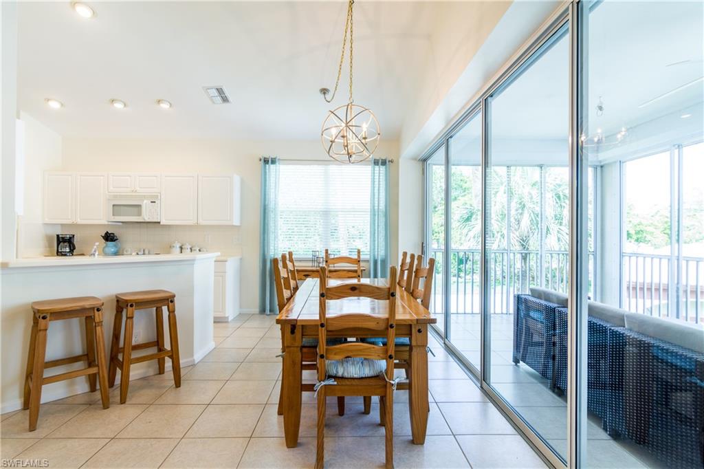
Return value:
[[(291, 254), (289, 252), (289, 254)], [(279, 263), (278, 258), (273, 258), (272, 259), (272, 265), (274, 268), (274, 283), (276, 286), (276, 297), (277, 297), (277, 306), (279, 307), (279, 313), (284, 311), (284, 308), (286, 305), (289, 303), (291, 298), (294, 296), (294, 287), (292, 284), (291, 279), (295, 278), (293, 275), (291, 275), (291, 270), (284, 268), (283, 266), (286, 265), (287, 263), (287, 255), (282, 254), (281, 255), (281, 261)], [(296, 287), (295, 289), (298, 289), (298, 281), (296, 280)], [(283, 337), (283, 332), (281, 333), (281, 351), (282, 354), (284, 353), (284, 337)], [(337, 341), (341, 342), (341, 341)], [(317, 352), (316, 349), (318, 347), (318, 340), (317, 339), (303, 339), (303, 346), (301, 350), (301, 373), (303, 373), (303, 370), (317, 370), (318, 369), (318, 363), (317, 363)], [(282, 358), (283, 362), (283, 358)], [(284, 370), (284, 366), (282, 363), (282, 370)], [(313, 392), (313, 386), (304, 384), (303, 387), (301, 388), (301, 392)], [(279, 415), (284, 415), (284, 387), (282, 386), (281, 389), (279, 390), (279, 404), (277, 406), (277, 413)], [(337, 398), (337, 413), (339, 415), (344, 415), (345, 413), (345, 398), (344, 396), (338, 397)]]

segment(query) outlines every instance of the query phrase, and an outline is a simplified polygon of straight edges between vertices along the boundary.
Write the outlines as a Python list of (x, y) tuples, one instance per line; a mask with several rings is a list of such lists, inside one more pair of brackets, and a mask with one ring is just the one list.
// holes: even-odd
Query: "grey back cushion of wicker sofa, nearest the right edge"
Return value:
[(704, 354), (704, 328), (702, 327), (681, 321), (653, 318), (644, 314), (628, 314), (626, 328)]

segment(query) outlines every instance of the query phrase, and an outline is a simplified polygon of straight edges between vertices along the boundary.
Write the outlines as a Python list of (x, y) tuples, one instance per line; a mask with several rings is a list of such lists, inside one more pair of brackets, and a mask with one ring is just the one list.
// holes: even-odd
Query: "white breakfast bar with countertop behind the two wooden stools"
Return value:
[[(215, 346), (213, 342), (213, 272), (220, 253), (147, 256), (70, 256), (23, 258), (1, 264), (2, 387), (1, 412), (22, 407), (25, 361), (32, 328), (32, 301), (96, 296), (104, 303), (104, 339), (110, 344), (115, 317), (115, 294), (137, 290), (169, 290), (176, 295), (180, 363), (193, 365)], [(134, 342), (156, 339), (153, 318), (134, 318)], [(61, 321), (49, 328), (46, 360), (84, 353), (80, 327)], [(167, 331), (168, 333), (168, 331)], [(167, 335), (168, 337), (168, 335)], [(168, 339), (167, 339), (168, 341)], [(106, 354), (108, 351), (106, 350)], [(76, 363), (56, 368), (75, 369)], [(167, 366), (170, 363), (167, 362)], [(157, 364), (138, 363), (130, 379), (156, 374)], [(52, 374), (54, 370), (52, 370)], [(119, 375), (118, 375), (119, 380)], [(42, 401), (54, 401), (88, 390), (83, 380), (45, 386)]]

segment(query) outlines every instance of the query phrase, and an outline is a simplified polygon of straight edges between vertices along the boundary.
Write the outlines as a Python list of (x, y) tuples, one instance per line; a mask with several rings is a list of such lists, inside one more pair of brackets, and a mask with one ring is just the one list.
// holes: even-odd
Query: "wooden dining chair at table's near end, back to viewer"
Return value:
[[(386, 432), (386, 468), (394, 467), (394, 339), (396, 323), (396, 267), (391, 267), (389, 286), (346, 283), (327, 286), (328, 270), (320, 268), (320, 306), (318, 329), (318, 449), (315, 468), (325, 462), (325, 407), (327, 396), (379, 396)], [(367, 298), (386, 302), (387, 315), (368, 313), (328, 314), (328, 301), (344, 298)], [(355, 330), (386, 332), (386, 344), (346, 342), (330, 346), (327, 331), (353, 327)]]

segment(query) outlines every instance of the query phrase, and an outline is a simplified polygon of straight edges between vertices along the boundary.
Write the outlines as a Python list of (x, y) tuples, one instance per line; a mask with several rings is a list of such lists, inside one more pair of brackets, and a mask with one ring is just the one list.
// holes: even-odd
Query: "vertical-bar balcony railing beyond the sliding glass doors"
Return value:
[[(434, 294), (431, 309), (443, 311), (443, 250), (432, 249), (435, 258)], [(567, 293), (569, 256), (567, 251), (491, 251), (489, 265), (489, 308), (492, 314), (513, 312), (513, 296), (541, 286)], [(479, 249), (453, 249), (450, 256), (450, 313), (479, 314), (481, 253)], [(593, 273), (594, 254), (589, 253), (589, 271)], [(682, 268), (670, 273), (677, 257), (655, 254), (622, 254), (623, 308), (635, 313), (677, 318), (704, 323), (704, 258), (683, 257)], [(679, 275), (678, 275), (679, 274)], [(617, 273), (615, 273), (617, 275)], [(672, 277), (671, 277), (672, 275)], [(589, 297), (596, 298), (593, 275)], [(603, 280), (602, 280), (603, 281)], [(614, 280), (617, 281), (617, 280)], [(670, 290), (670, 284), (677, 288)], [(672, 307), (670, 307), (672, 305)]]

